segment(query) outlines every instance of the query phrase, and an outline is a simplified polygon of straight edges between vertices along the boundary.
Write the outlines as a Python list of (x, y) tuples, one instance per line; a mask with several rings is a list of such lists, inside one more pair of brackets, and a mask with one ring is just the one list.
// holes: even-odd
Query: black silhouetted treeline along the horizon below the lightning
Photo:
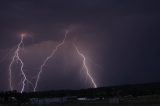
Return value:
[(17, 100), (26, 102), (29, 98), (54, 98), (54, 97), (123, 97), (123, 96), (143, 96), (143, 95), (160, 95), (160, 83), (135, 84), (124, 86), (89, 88), (81, 90), (59, 90), (59, 91), (40, 91), (24, 92), (17, 91), (1, 92), (0, 98), (9, 99), (15, 97)]

